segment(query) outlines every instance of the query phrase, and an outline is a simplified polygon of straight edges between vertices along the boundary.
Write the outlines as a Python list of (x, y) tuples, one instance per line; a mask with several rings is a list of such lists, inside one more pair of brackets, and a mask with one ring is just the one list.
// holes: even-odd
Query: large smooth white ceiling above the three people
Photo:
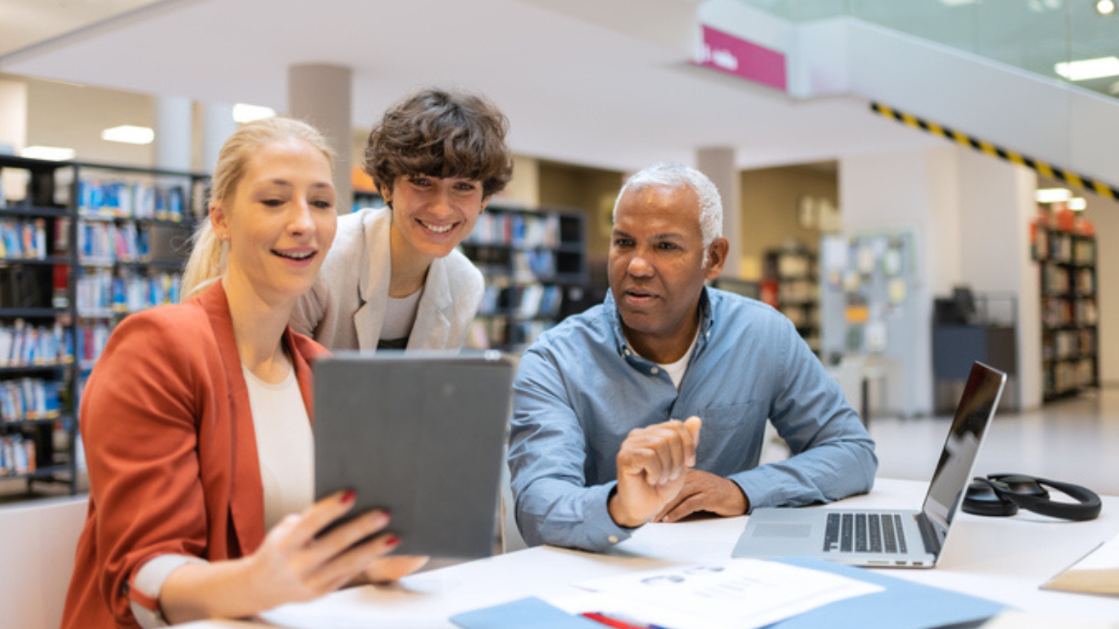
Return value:
[(0, 72), (283, 111), (289, 66), (340, 64), (360, 126), (420, 86), (457, 85), (506, 112), (516, 152), (619, 170), (705, 145), (749, 168), (940, 142), (859, 98), (796, 101), (690, 66), (696, 3), (164, 0), (0, 56)]

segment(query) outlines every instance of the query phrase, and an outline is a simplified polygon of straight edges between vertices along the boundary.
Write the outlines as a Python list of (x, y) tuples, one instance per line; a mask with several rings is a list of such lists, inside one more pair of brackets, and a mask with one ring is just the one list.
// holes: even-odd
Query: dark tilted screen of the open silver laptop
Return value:
[(976, 363), (971, 367), (971, 375), (956, 409), (952, 428), (948, 431), (937, 471), (932, 475), (929, 494), (921, 508), (930, 523), (935, 525), (934, 528), (941, 536), (939, 542), (943, 542), (946, 529), (956, 516), (956, 509), (968, 488), (979, 443), (995, 415), (1005, 382), (1005, 374), (982, 363)]

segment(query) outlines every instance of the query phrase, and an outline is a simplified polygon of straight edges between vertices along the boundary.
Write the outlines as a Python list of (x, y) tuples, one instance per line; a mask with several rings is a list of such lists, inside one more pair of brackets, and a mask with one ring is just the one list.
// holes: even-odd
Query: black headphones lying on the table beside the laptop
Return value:
[[(1051, 500), (1043, 486), (1056, 489), (1076, 503)], [(963, 510), (979, 516), (1013, 516), (1019, 507), (1045, 516), (1084, 522), (1096, 519), (1102, 504), (1100, 497), (1087, 487), (1022, 473), (976, 477), (963, 497)]]

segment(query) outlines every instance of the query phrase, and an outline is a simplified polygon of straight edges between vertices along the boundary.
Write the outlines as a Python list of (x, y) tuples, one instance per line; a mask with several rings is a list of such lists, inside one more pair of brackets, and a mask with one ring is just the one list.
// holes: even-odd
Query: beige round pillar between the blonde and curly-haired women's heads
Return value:
[(354, 209), (352, 168), (354, 71), (330, 64), (300, 64), (288, 68), (288, 115), (313, 124), (335, 150), (336, 207)]

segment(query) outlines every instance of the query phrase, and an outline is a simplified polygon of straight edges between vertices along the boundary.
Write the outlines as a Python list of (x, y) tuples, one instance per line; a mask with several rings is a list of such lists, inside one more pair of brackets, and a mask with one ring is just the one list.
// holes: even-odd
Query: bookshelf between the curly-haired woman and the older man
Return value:
[(524, 350), (587, 282), (586, 218), (579, 210), (490, 205), (462, 248), (486, 276), (473, 347)]

